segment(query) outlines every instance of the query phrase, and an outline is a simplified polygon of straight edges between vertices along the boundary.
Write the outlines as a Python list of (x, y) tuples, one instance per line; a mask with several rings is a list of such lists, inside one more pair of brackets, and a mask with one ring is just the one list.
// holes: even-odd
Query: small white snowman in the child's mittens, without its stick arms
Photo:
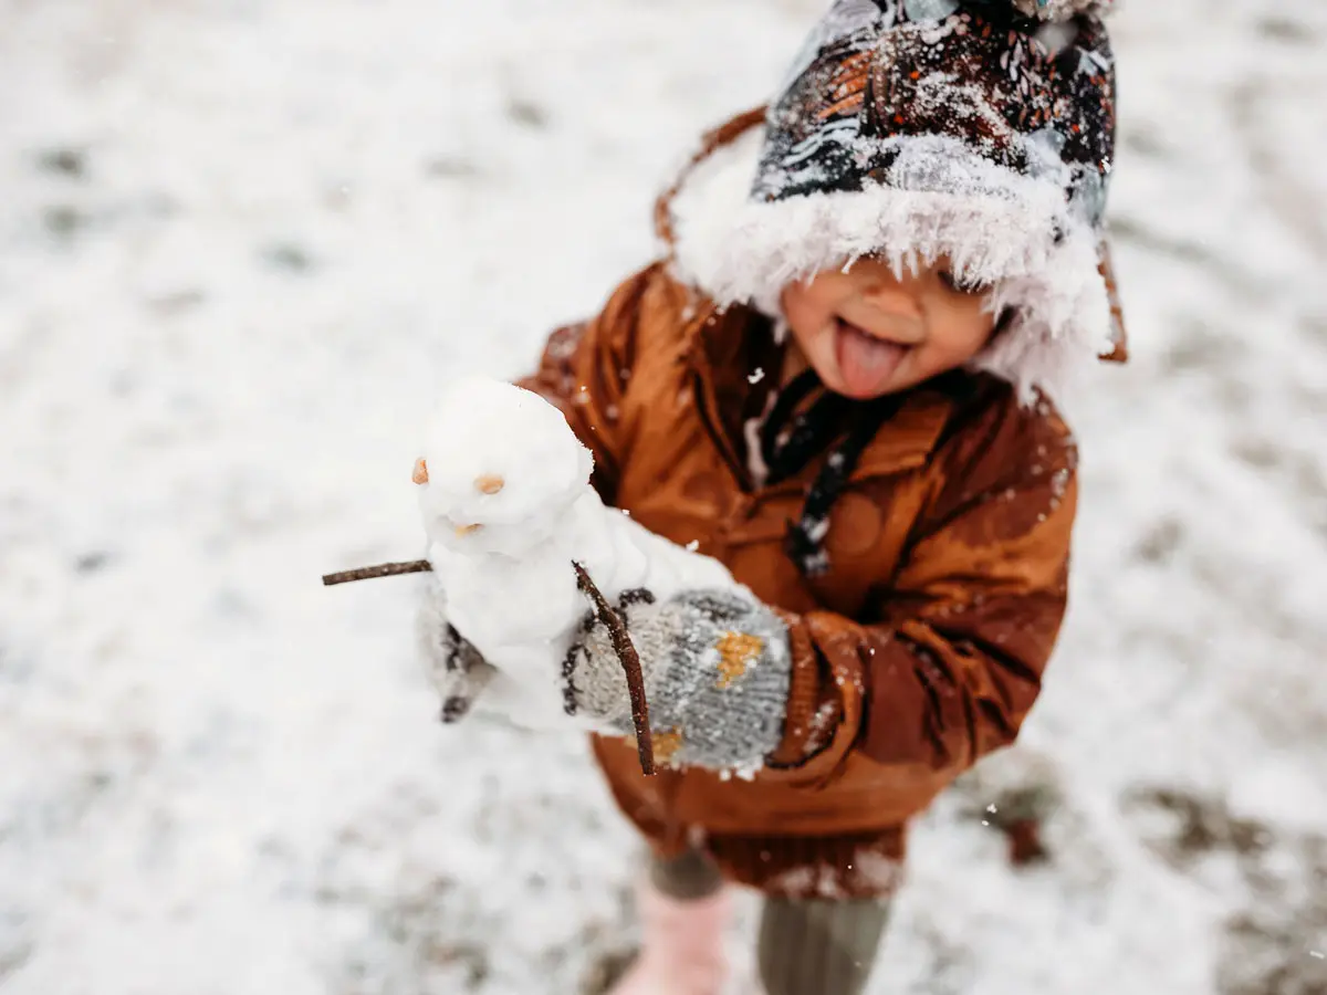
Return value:
[(480, 707), (518, 724), (567, 726), (559, 675), (589, 610), (573, 564), (612, 604), (740, 589), (717, 560), (605, 507), (592, 470), (561, 411), (482, 377), (445, 390), (415, 463), (438, 616), (491, 667)]

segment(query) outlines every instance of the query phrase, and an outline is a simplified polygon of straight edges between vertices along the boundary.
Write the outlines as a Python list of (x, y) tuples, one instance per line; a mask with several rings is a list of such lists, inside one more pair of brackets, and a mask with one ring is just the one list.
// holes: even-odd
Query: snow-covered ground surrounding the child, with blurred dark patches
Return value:
[[(414, 581), (318, 574), (418, 555), (433, 386), (648, 259), (820, 9), (0, 0), (5, 995), (598, 991), (637, 844), (583, 746), (441, 728)], [(1115, 29), (1074, 609), (874, 995), (1327, 992), (1327, 4)]]

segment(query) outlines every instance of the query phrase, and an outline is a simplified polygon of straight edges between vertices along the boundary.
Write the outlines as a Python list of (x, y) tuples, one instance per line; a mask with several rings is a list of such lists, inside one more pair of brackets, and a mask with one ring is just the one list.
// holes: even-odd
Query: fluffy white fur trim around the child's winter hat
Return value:
[[(884, 256), (900, 275), (947, 256), (965, 280), (993, 287), (1009, 328), (974, 361), (1018, 387), (1063, 395), (1075, 369), (1112, 350), (1112, 316), (1089, 224), (1055, 178), (1015, 172), (938, 135), (901, 137), (889, 184), (750, 199), (764, 142), (756, 126), (699, 161), (669, 208), (674, 268), (719, 304), (780, 314), (791, 281)], [(936, 188), (937, 171), (947, 180)], [(928, 188), (930, 187), (930, 188)]]

